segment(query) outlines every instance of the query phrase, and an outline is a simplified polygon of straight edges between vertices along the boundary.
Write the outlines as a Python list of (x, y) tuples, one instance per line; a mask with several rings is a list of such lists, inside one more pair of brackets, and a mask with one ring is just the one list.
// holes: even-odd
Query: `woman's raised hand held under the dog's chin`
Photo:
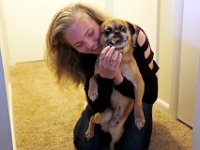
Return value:
[(118, 51), (115, 51), (114, 47), (107, 46), (105, 47), (99, 59), (99, 72), (100, 76), (108, 79), (117, 80), (116, 84), (123, 80), (119, 65), (122, 59), (122, 54)]

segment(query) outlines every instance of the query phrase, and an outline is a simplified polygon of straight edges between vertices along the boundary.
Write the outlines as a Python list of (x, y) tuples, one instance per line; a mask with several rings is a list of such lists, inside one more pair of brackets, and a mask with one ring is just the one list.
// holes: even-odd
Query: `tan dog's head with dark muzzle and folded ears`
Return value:
[(100, 44), (102, 47), (114, 46), (125, 53), (131, 47), (135, 29), (132, 24), (120, 19), (107, 20), (101, 24)]

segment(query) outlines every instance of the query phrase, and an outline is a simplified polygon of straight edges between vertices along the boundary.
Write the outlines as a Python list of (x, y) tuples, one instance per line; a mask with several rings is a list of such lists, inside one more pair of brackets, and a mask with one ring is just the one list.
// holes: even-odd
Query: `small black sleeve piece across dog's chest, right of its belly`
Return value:
[(135, 99), (134, 85), (125, 77), (122, 83), (115, 86), (115, 89), (118, 90), (122, 95)]

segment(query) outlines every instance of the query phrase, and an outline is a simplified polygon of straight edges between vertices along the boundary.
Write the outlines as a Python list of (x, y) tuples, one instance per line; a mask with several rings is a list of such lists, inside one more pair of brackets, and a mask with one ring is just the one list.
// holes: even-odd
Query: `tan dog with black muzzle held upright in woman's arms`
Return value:
[[(133, 57), (134, 43), (136, 40), (135, 28), (127, 21), (120, 19), (107, 20), (100, 27), (100, 44), (102, 47), (114, 46), (116, 51), (122, 54), (120, 70), (124, 77), (134, 85), (135, 101), (123, 96), (113, 88), (111, 95), (111, 108), (107, 108), (102, 113), (91, 116), (88, 129), (85, 133), (89, 140), (94, 135), (95, 124), (100, 124), (105, 132), (109, 132), (112, 137), (110, 149), (114, 150), (114, 145), (119, 141), (123, 132), (124, 124), (134, 107), (135, 124), (141, 129), (145, 124), (145, 117), (142, 109), (142, 98), (144, 95), (144, 81), (140, 74), (136, 60)], [(98, 97), (98, 85), (96, 77), (98, 71), (98, 60), (95, 65), (94, 75), (90, 79), (88, 96), (91, 100)]]

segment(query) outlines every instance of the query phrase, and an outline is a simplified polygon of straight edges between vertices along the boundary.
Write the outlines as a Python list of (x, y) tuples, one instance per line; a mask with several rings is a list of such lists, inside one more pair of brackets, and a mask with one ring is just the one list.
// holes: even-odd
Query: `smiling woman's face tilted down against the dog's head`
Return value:
[(78, 17), (64, 32), (64, 39), (80, 53), (99, 54), (100, 29), (90, 16)]

